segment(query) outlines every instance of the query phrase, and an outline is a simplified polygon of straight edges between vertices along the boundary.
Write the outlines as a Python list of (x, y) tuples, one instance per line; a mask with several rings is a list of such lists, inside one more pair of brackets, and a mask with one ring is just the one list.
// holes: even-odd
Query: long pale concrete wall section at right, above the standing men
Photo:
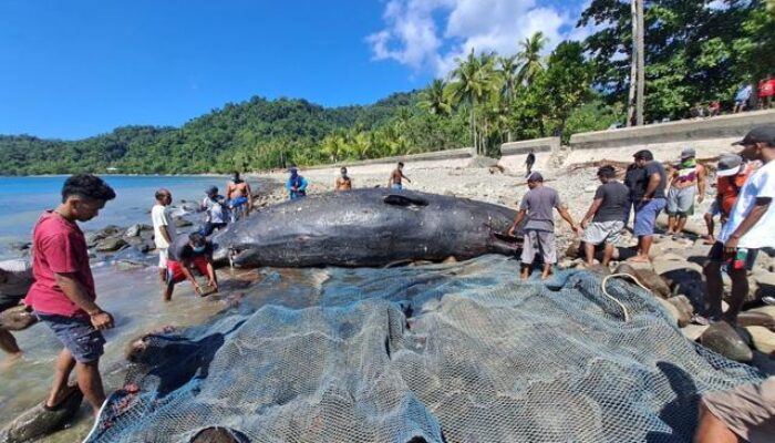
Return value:
[(651, 150), (660, 159), (673, 159), (685, 146), (694, 147), (700, 158), (713, 157), (736, 151), (731, 144), (763, 124), (775, 124), (775, 110), (574, 134), (565, 164), (631, 161), (640, 150)]

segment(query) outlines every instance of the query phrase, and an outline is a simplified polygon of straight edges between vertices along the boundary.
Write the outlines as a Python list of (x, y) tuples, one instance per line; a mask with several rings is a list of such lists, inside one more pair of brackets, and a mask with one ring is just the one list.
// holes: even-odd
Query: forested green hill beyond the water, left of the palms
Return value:
[(0, 135), (0, 175), (205, 173), (319, 163), (323, 138), (390, 123), (415, 107), (417, 93), (397, 93), (368, 106), (322, 107), (304, 100), (262, 97), (194, 119), (179, 128), (124, 126), (79, 141)]

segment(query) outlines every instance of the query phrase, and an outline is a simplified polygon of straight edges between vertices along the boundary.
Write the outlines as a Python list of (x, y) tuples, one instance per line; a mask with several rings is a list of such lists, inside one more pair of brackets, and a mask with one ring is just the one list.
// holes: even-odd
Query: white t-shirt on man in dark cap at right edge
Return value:
[[(740, 189), (737, 202), (730, 212), (730, 219), (721, 229), (719, 241), (726, 243), (743, 219), (751, 213), (756, 198), (775, 198), (775, 162), (769, 162), (753, 173)], [(743, 237), (737, 241), (741, 248), (775, 247), (775, 202)]]

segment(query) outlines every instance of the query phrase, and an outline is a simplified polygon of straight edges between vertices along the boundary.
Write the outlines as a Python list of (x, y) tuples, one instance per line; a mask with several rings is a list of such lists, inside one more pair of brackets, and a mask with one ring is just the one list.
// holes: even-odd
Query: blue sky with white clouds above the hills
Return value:
[(78, 140), (180, 126), (254, 95), (370, 104), (591, 29), (590, 0), (2, 0), (0, 134)]

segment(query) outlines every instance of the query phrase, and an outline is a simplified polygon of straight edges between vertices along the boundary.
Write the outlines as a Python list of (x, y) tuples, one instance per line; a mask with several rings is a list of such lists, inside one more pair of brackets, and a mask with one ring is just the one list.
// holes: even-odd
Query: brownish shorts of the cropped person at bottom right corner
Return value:
[(775, 435), (775, 377), (762, 383), (711, 392), (702, 403), (737, 436), (751, 443), (772, 442)]

